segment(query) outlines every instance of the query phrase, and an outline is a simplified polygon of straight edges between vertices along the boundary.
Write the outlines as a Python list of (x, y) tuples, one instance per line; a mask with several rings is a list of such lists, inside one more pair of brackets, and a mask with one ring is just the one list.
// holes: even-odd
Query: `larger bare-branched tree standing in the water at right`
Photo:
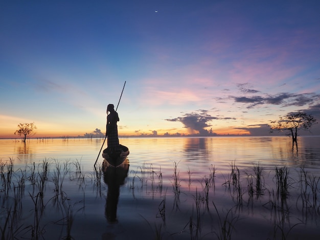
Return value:
[(270, 132), (273, 131), (287, 131), (286, 135), (292, 138), (292, 143), (297, 142), (299, 130), (309, 130), (313, 124), (316, 124), (316, 119), (312, 114), (299, 111), (294, 113), (288, 113), (285, 116), (281, 116), (278, 121), (271, 122)]

